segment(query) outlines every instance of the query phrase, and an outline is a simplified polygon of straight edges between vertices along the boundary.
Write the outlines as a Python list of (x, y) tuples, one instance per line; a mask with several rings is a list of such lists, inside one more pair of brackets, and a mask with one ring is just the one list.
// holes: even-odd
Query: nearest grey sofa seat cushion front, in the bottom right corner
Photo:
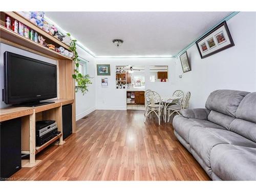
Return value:
[(222, 180), (256, 180), (256, 148), (219, 144), (211, 150), (210, 164)]

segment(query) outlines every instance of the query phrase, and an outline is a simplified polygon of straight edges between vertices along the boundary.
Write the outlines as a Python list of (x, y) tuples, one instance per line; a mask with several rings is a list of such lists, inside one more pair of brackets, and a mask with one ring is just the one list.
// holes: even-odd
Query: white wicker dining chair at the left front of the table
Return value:
[(145, 103), (147, 111), (144, 122), (146, 122), (146, 118), (153, 113), (158, 117), (158, 124), (160, 125), (160, 118), (163, 110), (161, 96), (155, 91), (147, 91), (145, 93)]

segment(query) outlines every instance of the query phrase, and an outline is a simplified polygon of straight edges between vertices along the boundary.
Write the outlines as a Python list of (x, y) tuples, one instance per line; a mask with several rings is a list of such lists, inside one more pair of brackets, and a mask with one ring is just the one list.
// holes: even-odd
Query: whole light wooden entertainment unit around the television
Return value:
[[(0, 109), (0, 122), (22, 118), (22, 153), (30, 154), (29, 160), (22, 160), (22, 167), (32, 167), (37, 165), (40, 160), (35, 159), (35, 155), (44, 150), (48, 145), (59, 140), (59, 144), (65, 141), (62, 139), (62, 106), (72, 104), (72, 131), (75, 133), (75, 82), (72, 78), (74, 72), (74, 63), (72, 58), (48, 49), (29, 38), (21, 36), (5, 27), (5, 16), (8, 15), (18, 22), (23, 23), (29, 28), (35, 30), (46, 38), (46, 42), (50, 42), (55, 47), (64, 47), (70, 50), (70, 47), (43, 31), (29, 20), (20, 16), (16, 12), (1, 12), (0, 19), (0, 42), (19, 49), (23, 49), (41, 56), (45, 56), (57, 60), (57, 98), (50, 101), (54, 103), (36, 107), (14, 107)], [(36, 146), (35, 143), (35, 122), (37, 120), (55, 120), (60, 134), (52, 138), (47, 143)]]

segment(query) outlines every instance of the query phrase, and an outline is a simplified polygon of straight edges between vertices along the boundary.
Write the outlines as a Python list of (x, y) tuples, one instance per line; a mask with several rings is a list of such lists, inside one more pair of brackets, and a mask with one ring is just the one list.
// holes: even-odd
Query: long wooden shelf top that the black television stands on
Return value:
[(8, 108), (0, 109), (0, 122), (23, 117), (26, 115), (31, 115), (34, 112), (38, 113), (41, 111), (50, 110), (53, 108), (57, 108), (58, 106), (70, 104), (74, 102), (74, 99), (53, 99), (50, 101), (54, 101), (55, 103), (36, 106), (36, 107), (22, 107), (22, 106), (10, 106)]

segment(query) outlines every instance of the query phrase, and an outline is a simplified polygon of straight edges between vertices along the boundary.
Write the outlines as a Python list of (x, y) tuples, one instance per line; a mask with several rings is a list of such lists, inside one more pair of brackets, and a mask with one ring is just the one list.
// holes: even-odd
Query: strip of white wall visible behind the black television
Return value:
[(0, 43), (0, 91), (1, 91), (0, 92), (0, 108), (5, 108), (7, 106), (10, 106), (10, 105), (5, 104), (4, 101), (2, 101), (2, 89), (4, 89), (4, 52), (6, 52), (6, 51), (16, 53), (19, 55), (24, 55), (24, 56), (31, 57), (34, 59), (42, 60), (45, 62), (49, 62), (54, 65), (56, 65), (56, 63), (57, 63), (57, 61), (54, 59), (50, 59), (50, 58), (47, 58), (47, 57), (44, 57), (41, 55), (37, 55), (37, 54), (31, 53), (31, 52), (28, 52), (28, 51), (25, 51), (22, 49), (18, 49), (18, 48)]

